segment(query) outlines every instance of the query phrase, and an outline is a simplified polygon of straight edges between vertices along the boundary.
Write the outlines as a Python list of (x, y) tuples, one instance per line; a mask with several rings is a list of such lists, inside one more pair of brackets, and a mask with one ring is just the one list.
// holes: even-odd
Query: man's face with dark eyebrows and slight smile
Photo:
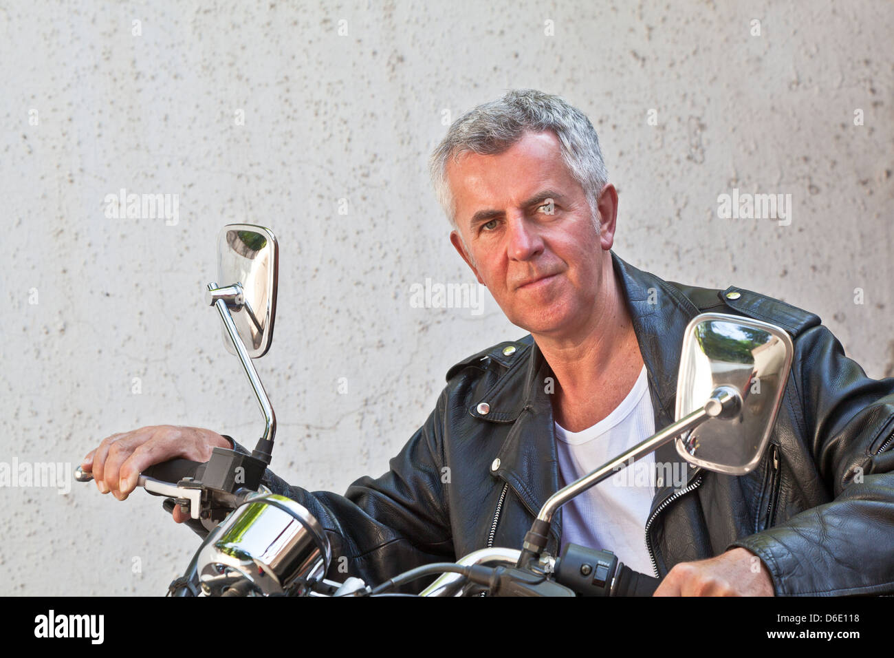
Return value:
[(597, 232), (552, 132), (528, 132), (500, 155), (465, 153), (447, 178), (462, 237), (453, 231), (451, 242), (510, 322), (557, 338), (586, 327), (614, 235), (614, 188), (600, 194)]

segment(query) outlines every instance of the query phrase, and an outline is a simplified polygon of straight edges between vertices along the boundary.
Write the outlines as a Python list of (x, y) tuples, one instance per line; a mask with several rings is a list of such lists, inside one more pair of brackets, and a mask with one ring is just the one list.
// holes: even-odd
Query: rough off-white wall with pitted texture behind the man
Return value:
[[(445, 110), (512, 87), (591, 117), (621, 257), (818, 312), (894, 374), (890, 3), (487, 5), (0, 2), (0, 461), (74, 466), (157, 423), (253, 444), (256, 405), (202, 303), (219, 228), (250, 222), (282, 246), (257, 362), (274, 470), (333, 491), (384, 472), (452, 363), (525, 333), (489, 297), (478, 316), (409, 303), (426, 278), (474, 281), (426, 177)], [(790, 226), (718, 218), (734, 187), (791, 194)], [(121, 188), (178, 195), (178, 222), (106, 218)], [(162, 594), (198, 545), (142, 492), (0, 504), (0, 594)]]

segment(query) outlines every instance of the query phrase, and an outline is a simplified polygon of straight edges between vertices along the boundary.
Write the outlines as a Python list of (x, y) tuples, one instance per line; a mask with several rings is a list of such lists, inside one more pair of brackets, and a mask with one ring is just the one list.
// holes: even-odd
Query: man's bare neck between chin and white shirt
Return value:
[(643, 368), (620, 280), (607, 259), (590, 320), (573, 336), (535, 336), (556, 379), (556, 422), (579, 432), (603, 420), (627, 397)]

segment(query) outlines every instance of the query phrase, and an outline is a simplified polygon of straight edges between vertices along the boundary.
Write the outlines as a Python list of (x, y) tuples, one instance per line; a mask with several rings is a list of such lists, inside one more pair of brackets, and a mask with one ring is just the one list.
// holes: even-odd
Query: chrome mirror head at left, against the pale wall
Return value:
[[(242, 303), (231, 304), (230, 312), (252, 358), (265, 355), (273, 340), (278, 261), (270, 229), (250, 224), (223, 226), (217, 248), (218, 285), (242, 287)], [(236, 354), (225, 331), (223, 344)]]

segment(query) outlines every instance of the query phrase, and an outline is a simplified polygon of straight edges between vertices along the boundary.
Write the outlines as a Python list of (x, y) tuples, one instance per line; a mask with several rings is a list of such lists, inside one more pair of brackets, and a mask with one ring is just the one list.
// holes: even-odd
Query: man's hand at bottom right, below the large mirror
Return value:
[(680, 562), (654, 596), (773, 596), (770, 571), (760, 558), (734, 548), (710, 560)]

